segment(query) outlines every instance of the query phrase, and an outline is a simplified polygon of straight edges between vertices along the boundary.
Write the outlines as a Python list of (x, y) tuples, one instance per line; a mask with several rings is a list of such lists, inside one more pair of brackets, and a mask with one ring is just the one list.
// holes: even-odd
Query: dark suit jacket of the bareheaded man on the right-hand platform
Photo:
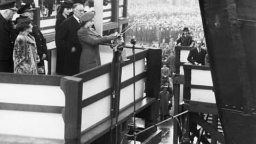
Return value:
[(195, 62), (197, 63), (201, 63), (202, 65), (205, 65), (204, 63), (204, 58), (206, 55), (206, 50), (201, 48), (201, 52), (198, 53), (197, 48), (194, 47), (193, 49), (190, 49), (189, 54), (188, 54), (188, 61), (190, 63), (195, 64)]

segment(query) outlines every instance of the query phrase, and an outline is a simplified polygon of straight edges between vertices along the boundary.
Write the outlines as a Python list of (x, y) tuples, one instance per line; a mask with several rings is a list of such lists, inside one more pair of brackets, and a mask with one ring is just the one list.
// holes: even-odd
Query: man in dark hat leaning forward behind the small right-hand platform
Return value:
[(176, 40), (175, 46), (179, 43), (181, 46), (193, 47), (194, 41), (192, 36), (189, 34), (189, 29), (187, 27), (183, 28), (183, 34)]

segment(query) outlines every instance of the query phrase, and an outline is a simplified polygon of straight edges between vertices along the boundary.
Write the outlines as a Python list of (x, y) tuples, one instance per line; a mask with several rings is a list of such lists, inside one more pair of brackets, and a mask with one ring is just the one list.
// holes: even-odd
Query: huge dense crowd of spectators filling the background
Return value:
[[(146, 5), (134, 2), (128, 5), (129, 26), (127, 41), (132, 36), (139, 43), (151, 47), (159, 47), (163, 39), (169, 44), (189, 28), (195, 39), (204, 37), (199, 5), (172, 5), (167, 1), (150, 1)], [(129, 27), (128, 26), (128, 27)]]

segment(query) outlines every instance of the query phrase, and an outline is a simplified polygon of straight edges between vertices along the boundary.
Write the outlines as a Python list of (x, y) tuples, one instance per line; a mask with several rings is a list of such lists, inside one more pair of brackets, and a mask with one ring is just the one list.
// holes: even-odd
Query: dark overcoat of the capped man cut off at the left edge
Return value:
[(10, 21), (0, 14), (0, 72), (13, 73), (13, 47), (17, 35)]

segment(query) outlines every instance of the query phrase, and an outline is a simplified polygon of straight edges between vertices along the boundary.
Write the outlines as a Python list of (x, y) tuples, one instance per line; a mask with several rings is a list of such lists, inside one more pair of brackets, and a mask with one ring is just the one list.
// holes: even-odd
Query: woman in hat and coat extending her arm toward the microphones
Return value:
[(117, 38), (117, 35), (100, 36), (92, 29), (94, 12), (86, 12), (80, 18), (82, 21), (81, 29), (78, 30), (78, 39), (82, 45), (80, 59), (80, 72), (100, 66), (99, 44), (110, 42)]

